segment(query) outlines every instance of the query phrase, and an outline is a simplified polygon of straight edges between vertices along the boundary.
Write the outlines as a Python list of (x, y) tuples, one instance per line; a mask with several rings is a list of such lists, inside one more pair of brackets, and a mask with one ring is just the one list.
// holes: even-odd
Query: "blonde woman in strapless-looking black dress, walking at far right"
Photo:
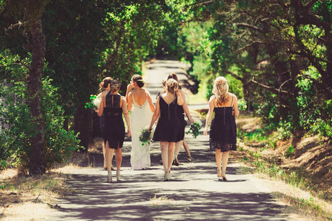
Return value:
[[(227, 180), (225, 173), (230, 151), (237, 150), (237, 125), (235, 117), (239, 116), (237, 96), (228, 92), (225, 77), (217, 77), (214, 81), (212, 95), (209, 102), (209, 112), (206, 115), (204, 135), (208, 133), (208, 126), (212, 114), (210, 128), (210, 149), (216, 151), (216, 166), (219, 180)], [(221, 168), (221, 162), (223, 166)]]

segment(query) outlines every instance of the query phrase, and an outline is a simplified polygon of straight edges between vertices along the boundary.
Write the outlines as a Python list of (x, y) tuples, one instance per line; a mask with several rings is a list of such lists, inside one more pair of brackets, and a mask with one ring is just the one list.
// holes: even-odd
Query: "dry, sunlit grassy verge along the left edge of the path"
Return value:
[[(75, 153), (71, 162), (56, 165), (56, 169), (44, 175), (29, 177), (7, 169), (0, 174), (1, 220), (47, 220), (59, 198), (71, 195), (75, 190), (66, 186), (71, 179), (69, 171), (77, 168), (86, 154)], [(23, 216), (22, 216), (23, 214)]]

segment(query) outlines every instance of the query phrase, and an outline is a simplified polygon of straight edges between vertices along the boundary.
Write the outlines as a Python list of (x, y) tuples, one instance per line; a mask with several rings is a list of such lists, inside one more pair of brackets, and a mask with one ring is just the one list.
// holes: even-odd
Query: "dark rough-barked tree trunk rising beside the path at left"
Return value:
[(37, 133), (30, 138), (29, 175), (45, 173), (44, 159), (44, 116), (42, 113), (42, 73), (46, 51), (46, 40), (42, 30), (41, 19), (33, 23), (29, 28), (31, 34), (30, 48), (33, 52), (28, 84), (28, 106), (35, 124)]

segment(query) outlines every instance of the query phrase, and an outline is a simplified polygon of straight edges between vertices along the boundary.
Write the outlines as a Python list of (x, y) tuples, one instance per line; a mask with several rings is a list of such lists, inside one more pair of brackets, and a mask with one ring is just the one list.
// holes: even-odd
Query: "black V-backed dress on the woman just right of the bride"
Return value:
[(163, 97), (159, 95), (160, 118), (154, 131), (154, 141), (178, 142), (180, 122), (178, 122), (178, 97), (170, 104), (167, 104)]

